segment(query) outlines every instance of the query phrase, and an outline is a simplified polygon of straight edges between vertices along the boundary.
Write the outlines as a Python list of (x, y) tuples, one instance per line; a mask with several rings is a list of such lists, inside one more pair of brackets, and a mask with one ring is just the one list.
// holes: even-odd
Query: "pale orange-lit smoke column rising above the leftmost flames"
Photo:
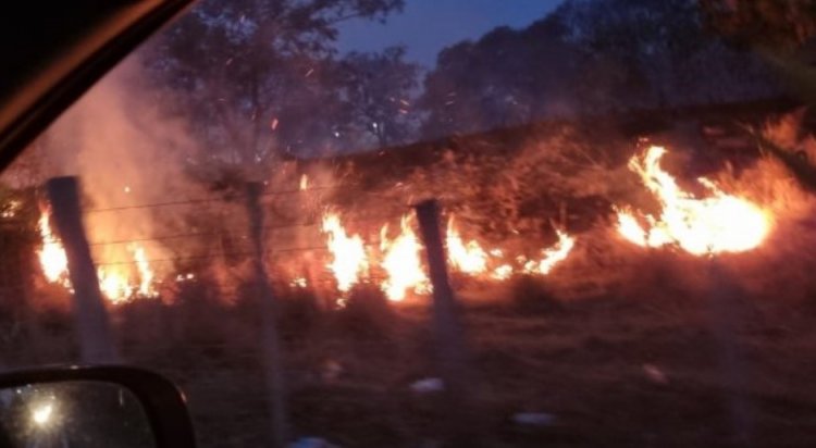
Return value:
[(141, 206), (205, 196), (185, 175), (197, 148), (185, 121), (168, 112), (172, 96), (147, 79), (137, 59), (125, 61), (46, 134), (47, 171), (79, 177), (88, 238), (108, 270), (132, 272), (135, 244), (148, 259), (169, 259), (164, 244), (147, 239), (187, 231), (189, 207)]

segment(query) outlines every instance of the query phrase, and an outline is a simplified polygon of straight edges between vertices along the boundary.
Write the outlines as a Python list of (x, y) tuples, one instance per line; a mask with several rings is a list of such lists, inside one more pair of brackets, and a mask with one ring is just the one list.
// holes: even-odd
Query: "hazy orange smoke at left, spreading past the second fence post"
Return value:
[[(156, 278), (203, 269), (226, 293), (243, 276), (249, 252), (240, 197), (249, 177), (265, 181), (268, 192), (295, 191), (263, 198), (268, 224), (285, 227), (268, 233), (269, 249), (323, 241), (316, 224), (331, 191), (325, 187), (336, 183), (335, 170), (323, 164), (299, 170), (292, 161), (271, 170), (231, 165), (223, 157), (230, 148), (218, 152), (201, 145), (187, 116), (172, 112), (184, 110), (177, 107), (183, 102), (149, 80), (137, 58), (127, 60), (74, 104), (44, 144), (49, 175), (79, 177), (86, 229), (103, 276), (143, 278), (135, 263), (143, 248)], [(307, 188), (298, 191), (302, 176)], [(297, 225), (286, 227), (290, 224)], [(285, 253), (284, 267), (293, 275), (318, 276), (311, 272), (322, 264), (313, 260), (317, 253), (298, 251), (302, 263)]]

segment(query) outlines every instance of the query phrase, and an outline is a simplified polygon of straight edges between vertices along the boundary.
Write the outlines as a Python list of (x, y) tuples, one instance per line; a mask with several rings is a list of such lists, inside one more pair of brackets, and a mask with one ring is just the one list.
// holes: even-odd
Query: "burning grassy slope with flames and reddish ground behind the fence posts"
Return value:
[[(701, 183), (664, 166), (659, 150), (627, 147), (616, 158), (574, 138), (564, 133), (504, 159), (445, 154), (373, 200), (359, 191), (318, 199), (311, 177), (295, 176), (318, 211), (313, 228), (286, 238), (325, 245), (269, 260), (299, 434), (348, 447), (437, 436), (433, 406), (408, 388), (436, 372), (423, 248), (404, 207), (433, 194), (449, 204), (448, 261), (486, 444), (712, 446), (727, 438), (732, 378), (718, 364), (714, 307), (725, 290), (740, 296), (731, 327), (745, 354), (741, 393), (754, 440), (808, 446), (816, 371), (801, 353), (816, 341), (812, 195), (769, 157), (724, 164)], [(453, 173), (449, 184), (417, 182), (441, 173)], [(481, 178), (495, 182), (473, 182)], [(344, 207), (349, 194), (357, 209)], [(380, 209), (391, 217), (357, 219)], [(621, 216), (632, 232), (621, 231)], [(281, 239), (270, 237), (270, 246)], [(149, 248), (143, 257), (152, 271), (139, 266), (135, 249), (127, 257), (128, 290), (140, 291), (146, 278), (160, 284), (161, 275), (149, 279), (157, 271)], [(240, 260), (220, 262), (246, 281)], [(111, 309), (125, 357), (182, 383), (202, 445), (260, 444), (259, 306), (251, 288), (225, 293), (205, 281), (206, 270), (195, 272), (174, 284), (175, 300)], [(38, 324), (44, 340), (70, 332), (67, 320), (55, 322)], [(53, 354), (35, 354), (46, 350), (36, 345), (22, 350), (25, 337), (9, 340), (11, 363)], [(522, 411), (552, 413), (558, 423), (540, 431), (508, 423)]]

